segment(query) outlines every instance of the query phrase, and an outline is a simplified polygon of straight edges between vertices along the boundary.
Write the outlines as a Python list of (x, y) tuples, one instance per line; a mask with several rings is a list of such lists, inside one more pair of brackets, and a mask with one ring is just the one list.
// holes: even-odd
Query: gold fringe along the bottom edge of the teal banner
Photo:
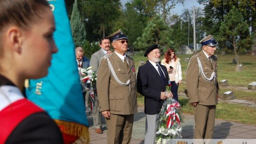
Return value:
[(87, 141), (86, 144), (89, 144), (90, 134), (87, 126), (58, 119), (54, 120), (55, 123), (60, 127), (62, 133), (82, 137), (83, 140)]

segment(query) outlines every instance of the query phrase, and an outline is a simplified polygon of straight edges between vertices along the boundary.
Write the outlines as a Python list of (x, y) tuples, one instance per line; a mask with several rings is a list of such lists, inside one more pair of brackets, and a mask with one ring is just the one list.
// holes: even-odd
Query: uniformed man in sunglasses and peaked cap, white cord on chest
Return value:
[(110, 41), (115, 51), (101, 59), (98, 70), (100, 111), (108, 127), (108, 144), (129, 144), (137, 113), (135, 64), (126, 55), (127, 36), (117, 31)]

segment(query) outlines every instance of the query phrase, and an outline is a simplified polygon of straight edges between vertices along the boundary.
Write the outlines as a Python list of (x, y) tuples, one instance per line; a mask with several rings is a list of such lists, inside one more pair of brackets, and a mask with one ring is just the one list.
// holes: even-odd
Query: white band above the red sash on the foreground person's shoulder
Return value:
[(0, 111), (19, 99), (25, 98), (17, 87), (0, 86)]

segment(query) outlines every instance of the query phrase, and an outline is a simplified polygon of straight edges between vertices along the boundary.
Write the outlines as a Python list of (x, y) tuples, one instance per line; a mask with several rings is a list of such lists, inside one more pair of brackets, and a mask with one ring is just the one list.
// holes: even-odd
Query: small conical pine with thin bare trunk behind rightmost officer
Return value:
[(226, 41), (234, 47), (237, 60), (236, 71), (239, 71), (237, 50), (250, 44), (249, 26), (247, 21), (243, 21), (242, 14), (235, 6), (224, 16), (224, 21), (219, 27), (219, 40)]

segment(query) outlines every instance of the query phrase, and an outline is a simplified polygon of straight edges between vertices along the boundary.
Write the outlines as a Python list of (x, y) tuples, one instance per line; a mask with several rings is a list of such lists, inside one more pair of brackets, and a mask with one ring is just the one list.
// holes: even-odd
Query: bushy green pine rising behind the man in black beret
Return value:
[(173, 45), (171, 37), (172, 29), (165, 23), (163, 18), (155, 16), (152, 20), (148, 21), (142, 36), (137, 38), (134, 45), (140, 50), (145, 50), (148, 45), (152, 44), (170, 46)]

